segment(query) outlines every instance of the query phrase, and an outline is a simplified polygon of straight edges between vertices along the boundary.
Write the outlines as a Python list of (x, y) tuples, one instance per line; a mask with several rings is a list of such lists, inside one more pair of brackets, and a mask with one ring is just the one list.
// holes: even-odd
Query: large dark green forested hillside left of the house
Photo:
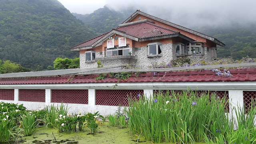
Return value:
[(0, 60), (46, 69), (78, 57), (68, 48), (96, 35), (57, 0), (0, 0)]

